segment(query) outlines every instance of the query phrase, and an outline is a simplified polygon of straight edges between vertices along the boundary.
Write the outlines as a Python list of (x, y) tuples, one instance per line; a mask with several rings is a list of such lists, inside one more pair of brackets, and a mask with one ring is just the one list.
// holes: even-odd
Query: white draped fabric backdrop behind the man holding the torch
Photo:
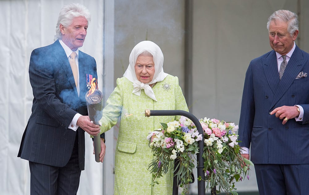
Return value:
[[(30, 194), (28, 161), (17, 158), (20, 140), (31, 114), (33, 95), (28, 76), (30, 54), (37, 47), (53, 43), (59, 11), (63, 5), (71, 2), (0, 1), (0, 194)], [(103, 1), (74, 2), (85, 5), (91, 12), (88, 34), (80, 50), (96, 59), (99, 81), (102, 83)], [(92, 151), (92, 141), (86, 135), (85, 171), (82, 171), (78, 194), (103, 193), (103, 165), (95, 162)]]

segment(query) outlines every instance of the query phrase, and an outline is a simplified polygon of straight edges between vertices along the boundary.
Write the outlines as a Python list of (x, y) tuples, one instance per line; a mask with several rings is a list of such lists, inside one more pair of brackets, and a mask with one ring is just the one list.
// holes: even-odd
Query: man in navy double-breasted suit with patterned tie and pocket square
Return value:
[(243, 157), (255, 164), (260, 195), (309, 193), (309, 54), (295, 44), (298, 17), (268, 20), (272, 51), (246, 72), (239, 121)]

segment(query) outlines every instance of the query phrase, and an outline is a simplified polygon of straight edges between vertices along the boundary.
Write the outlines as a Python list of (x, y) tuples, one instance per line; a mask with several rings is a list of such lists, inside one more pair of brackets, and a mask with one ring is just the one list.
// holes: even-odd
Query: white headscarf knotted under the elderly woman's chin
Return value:
[[(139, 81), (135, 74), (135, 63), (136, 59), (138, 58), (138, 55), (141, 54), (144, 51), (148, 51), (150, 54), (152, 54), (154, 58), (155, 63), (155, 74), (149, 83), (142, 83)], [(152, 41), (142, 41), (139, 42), (131, 51), (130, 57), (129, 57), (129, 66), (127, 70), (125, 71), (125, 74), (123, 74), (124, 77), (129, 79), (133, 83), (133, 91), (135, 95), (140, 96), (142, 89), (145, 90), (145, 94), (149, 96), (151, 99), (157, 101), (155, 98), (155, 93), (149, 86), (150, 84), (160, 82), (167, 76), (167, 73), (163, 72), (163, 53), (160, 49), (160, 47), (155, 44)]]

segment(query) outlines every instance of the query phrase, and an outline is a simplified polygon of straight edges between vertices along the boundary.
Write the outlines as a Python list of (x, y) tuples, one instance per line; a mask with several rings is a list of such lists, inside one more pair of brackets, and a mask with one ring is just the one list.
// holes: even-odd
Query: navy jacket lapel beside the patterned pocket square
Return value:
[(286, 66), (283, 76), (279, 82), (271, 108), (280, 100), (280, 98), (290, 88), (292, 83), (295, 81), (295, 78), (298, 75), (298, 73), (302, 71), (306, 62), (307, 59), (303, 59), (300, 49), (296, 46), (291, 56), (291, 59), (289, 60)]

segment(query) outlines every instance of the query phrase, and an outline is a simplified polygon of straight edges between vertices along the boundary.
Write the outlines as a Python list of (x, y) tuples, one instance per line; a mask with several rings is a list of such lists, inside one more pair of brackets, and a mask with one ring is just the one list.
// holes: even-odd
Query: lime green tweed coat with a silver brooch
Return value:
[[(131, 81), (125, 77), (118, 78), (117, 86), (107, 100), (101, 119), (101, 132), (106, 132), (117, 123), (120, 116), (115, 151), (114, 195), (172, 194), (173, 167), (158, 180), (159, 185), (150, 185), (152, 175), (148, 165), (153, 159), (153, 154), (146, 137), (150, 131), (159, 129), (160, 123), (174, 121), (180, 116), (145, 117), (144, 112), (145, 109), (188, 111), (178, 78), (168, 75), (153, 87), (157, 102), (149, 98), (144, 90), (140, 96), (132, 91)], [(134, 115), (128, 116), (129, 114)]]

